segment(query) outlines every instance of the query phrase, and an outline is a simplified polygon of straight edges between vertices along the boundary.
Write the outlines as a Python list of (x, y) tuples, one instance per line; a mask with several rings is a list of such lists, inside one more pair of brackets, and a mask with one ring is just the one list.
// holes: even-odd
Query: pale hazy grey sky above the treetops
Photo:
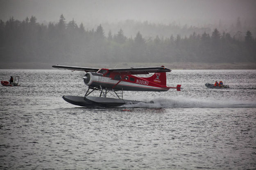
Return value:
[(256, 22), (256, 0), (0, 0), (0, 19), (24, 20), (32, 15), (37, 22), (77, 23), (150, 21), (169, 24), (209, 24), (241, 20)]

